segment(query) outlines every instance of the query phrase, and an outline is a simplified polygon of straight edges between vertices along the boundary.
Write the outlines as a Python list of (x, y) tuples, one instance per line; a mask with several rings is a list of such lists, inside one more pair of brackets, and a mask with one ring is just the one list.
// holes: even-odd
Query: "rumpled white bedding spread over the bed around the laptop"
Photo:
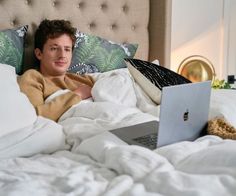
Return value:
[[(15, 154), (6, 144), (0, 149), (0, 195), (235, 195), (234, 140), (205, 136), (154, 151), (127, 145), (107, 130), (158, 119), (159, 107), (143, 94), (126, 69), (94, 77), (93, 100), (70, 108), (58, 124), (38, 117), (34, 125), (40, 120), (45, 126), (37, 126), (34, 138), (25, 131), (28, 142), (19, 140), (24, 138), (22, 129), (13, 137), (18, 143), (12, 136), (4, 136), (20, 148), (15, 148)], [(54, 96), (59, 93), (63, 92)], [(221, 110), (218, 104), (226, 103), (228, 94), (230, 104), (236, 105), (234, 91), (226, 95), (214, 91), (209, 117), (227, 118), (231, 113), (233, 124), (236, 112), (227, 109), (227, 104)], [(36, 133), (33, 125), (28, 129)]]

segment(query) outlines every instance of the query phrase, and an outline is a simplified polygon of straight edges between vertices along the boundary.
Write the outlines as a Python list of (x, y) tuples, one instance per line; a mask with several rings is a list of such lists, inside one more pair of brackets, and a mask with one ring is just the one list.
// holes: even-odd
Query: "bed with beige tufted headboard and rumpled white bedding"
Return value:
[[(24, 53), (17, 50), (24, 58), (10, 61), (23, 62), (19, 74), (34, 65), (33, 33), (44, 18), (67, 19), (82, 32), (138, 44), (135, 58), (158, 59), (168, 67), (170, 5), (166, 0), (1, 1), (0, 31), (21, 27), (20, 37), (26, 33)], [(231, 139), (208, 134), (152, 151), (128, 145), (108, 130), (158, 120), (160, 106), (127, 68), (91, 74), (94, 100), (74, 105), (56, 123), (36, 115), (19, 90), (16, 69), (1, 62), (0, 195), (235, 195), (234, 132)], [(212, 89), (209, 121), (216, 117), (236, 127), (235, 90)]]

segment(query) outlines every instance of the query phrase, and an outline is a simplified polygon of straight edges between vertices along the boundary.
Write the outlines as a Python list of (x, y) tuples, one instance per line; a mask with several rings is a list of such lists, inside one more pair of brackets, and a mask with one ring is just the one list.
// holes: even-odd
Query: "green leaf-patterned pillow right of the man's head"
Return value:
[(84, 74), (124, 68), (126, 64), (123, 59), (133, 58), (137, 47), (137, 44), (118, 44), (77, 30), (68, 71)]

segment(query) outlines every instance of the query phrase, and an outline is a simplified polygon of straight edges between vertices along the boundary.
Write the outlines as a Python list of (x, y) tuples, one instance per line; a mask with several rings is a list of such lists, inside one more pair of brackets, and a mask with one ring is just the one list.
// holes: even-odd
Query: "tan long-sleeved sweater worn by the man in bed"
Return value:
[(67, 73), (64, 80), (59, 78), (50, 79), (33, 69), (19, 76), (18, 83), (21, 91), (27, 95), (30, 102), (34, 105), (37, 114), (54, 121), (57, 121), (66, 110), (78, 103), (81, 99), (73, 92), (59, 95), (52, 101), (45, 103), (47, 97), (60, 89), (73, 91), (81, 83), (91, 87), (94, 84), (90, 76)]

